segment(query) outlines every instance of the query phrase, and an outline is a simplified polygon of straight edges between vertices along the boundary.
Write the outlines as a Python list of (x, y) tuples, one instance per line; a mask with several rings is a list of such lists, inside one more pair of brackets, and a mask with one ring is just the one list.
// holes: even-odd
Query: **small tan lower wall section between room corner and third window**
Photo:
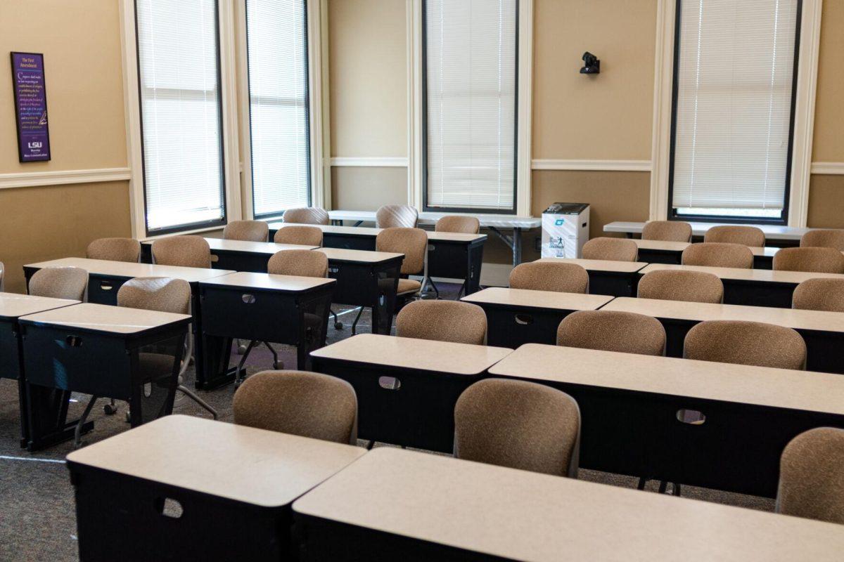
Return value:
[(369, 166), (331, 169), (334, 209), (376, 211), (381, 205), (408, 202), (408, 169)]

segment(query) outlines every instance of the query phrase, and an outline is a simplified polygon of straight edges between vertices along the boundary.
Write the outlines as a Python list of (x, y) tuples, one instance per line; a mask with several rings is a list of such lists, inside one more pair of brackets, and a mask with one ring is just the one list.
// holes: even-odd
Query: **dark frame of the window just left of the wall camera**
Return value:
[[(516, 64), (514, 71), (516, 74), (516, 82), (514, 83), (515, 96), (513, 99), (513, 203), (510, 209), (490, 209), (487, 207), (446, 207), (446, 206), (429, 206), (428, 205), (428, 0), (421, 2), (421, 173), (422, 183), (420, 190), (422, 192), (422, 211), (425, 212), (462, 212), (473, 214), (495, 214), (495, 215), (517, 215), (518, 212), (518, 196), (519, 196), (519, 88), (520, 81), (520, 40), (522, 35), (520, 18), (522, 16), (522, 0), (516, 0)], [(527, 186), (530, 189), (530, 186)]]

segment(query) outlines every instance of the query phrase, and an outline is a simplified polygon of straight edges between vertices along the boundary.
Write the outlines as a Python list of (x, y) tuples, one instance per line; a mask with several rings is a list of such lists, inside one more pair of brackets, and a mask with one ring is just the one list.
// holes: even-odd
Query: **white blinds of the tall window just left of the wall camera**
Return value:
[(511, 210), (517, 0), (427, 0), (426, 206)]

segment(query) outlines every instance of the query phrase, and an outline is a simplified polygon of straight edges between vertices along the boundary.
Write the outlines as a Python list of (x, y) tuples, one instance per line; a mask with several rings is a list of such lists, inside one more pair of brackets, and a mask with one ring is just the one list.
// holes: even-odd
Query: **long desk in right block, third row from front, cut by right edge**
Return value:
[(809, 371), (844, 374), (844, 313), (794, 308), (748, 307), (739, 304), (617, 298), (602, 310), (646, 314), (657, 318), (668, 337), (666, 355), (683, 356), (685, 335), (705, 320), (750, 320), (796, 329), (806, 342)]

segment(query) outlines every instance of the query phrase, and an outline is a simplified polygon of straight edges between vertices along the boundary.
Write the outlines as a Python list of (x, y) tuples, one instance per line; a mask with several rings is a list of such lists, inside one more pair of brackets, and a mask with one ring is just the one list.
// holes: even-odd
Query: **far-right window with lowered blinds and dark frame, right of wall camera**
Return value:
[(674, 218), (785, 222), (799, 0), (678, 0)]

